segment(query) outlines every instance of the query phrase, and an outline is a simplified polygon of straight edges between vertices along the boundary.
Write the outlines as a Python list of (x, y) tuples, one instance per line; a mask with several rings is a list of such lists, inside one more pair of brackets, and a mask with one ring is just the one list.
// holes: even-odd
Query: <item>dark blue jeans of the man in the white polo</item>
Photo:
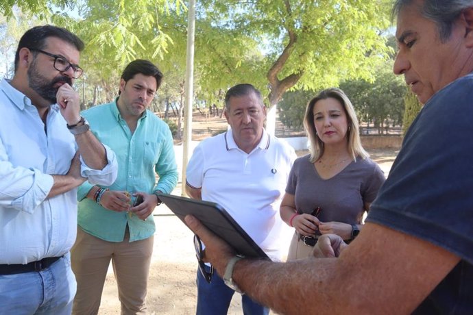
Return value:
[[(210, 268), (206, 266), (207, 271)], [(202, 273), (197, 270), (197, 315), (225, 315), (234, 294), (234, 290), (228, 288), (223, 279), (213, 273), (212, 281), (208, 283)], [(245, 315), (268, 315), (269, 308), (264, 307), (250, 299), (246, 294), (241, 296), (243, 314)]]

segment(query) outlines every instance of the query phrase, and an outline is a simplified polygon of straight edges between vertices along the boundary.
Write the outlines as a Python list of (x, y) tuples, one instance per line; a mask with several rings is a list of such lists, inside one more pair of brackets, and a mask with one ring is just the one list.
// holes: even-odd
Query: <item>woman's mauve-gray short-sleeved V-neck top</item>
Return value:
[(356, 158), (334, 177), (322, 179), (309, 155), (304, 155), (294, 162), (286, 192), (295, 196), (299, 213), (322, 207), (318, 216), (322, 222), (356, 224), (360, 223), (364, 203), (374, 201), (384, 181), (383, 171), (369, 158)]

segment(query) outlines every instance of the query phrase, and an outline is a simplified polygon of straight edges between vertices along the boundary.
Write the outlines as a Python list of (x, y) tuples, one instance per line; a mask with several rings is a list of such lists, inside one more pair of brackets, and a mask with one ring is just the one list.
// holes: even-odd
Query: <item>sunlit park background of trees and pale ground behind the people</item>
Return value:
[[(42, 24), (66, 27), (86, 43), (80, 61), (84, 75), (75, 81), (82, 109), (117, 97), (119, 75), (130, 61), (151, 60), (165, 79), (150, 110), (173, 131), (182, 169), (183, 134), (191, 127), (184, 119), (188, 5), (180, 0), (0, 0), (0, 78), (13, 75), (21, 35)], [(226, 130), (223, 97), (234, 84), (247, 82), (262, 91), (276, 136), (282, 138), (304, 136), (306, 103), (319, 90), (337, 86), (354, 104), (363, 145), (387, 175), (421, 107), (402, 77), (392, 73), (396, 40), (390, 8), (389, 0), (196, 1), (192, 140)], [(180, 177), (174, 194), (181, 194), (181, 184)], [(197, 264), (191, 233), (163, 205), (154, 216), (149, 314), (194, 314)], [(111, 273), (100, 314), (119, 314)], [(238, 301), (230, 314), (241, 314)]]

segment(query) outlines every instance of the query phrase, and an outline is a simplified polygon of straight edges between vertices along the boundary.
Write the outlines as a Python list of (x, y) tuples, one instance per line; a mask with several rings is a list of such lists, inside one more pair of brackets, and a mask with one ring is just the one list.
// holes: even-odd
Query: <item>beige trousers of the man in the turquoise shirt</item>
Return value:
[(71, 266), (77, 280), (73, 314), (99, 312), (110, 260), (117, 279), (121, 314), (146, 314), (146, 293), (154, 237), (129, 242), (107, 242), (77, 227), (77, 240), (71, 250)]

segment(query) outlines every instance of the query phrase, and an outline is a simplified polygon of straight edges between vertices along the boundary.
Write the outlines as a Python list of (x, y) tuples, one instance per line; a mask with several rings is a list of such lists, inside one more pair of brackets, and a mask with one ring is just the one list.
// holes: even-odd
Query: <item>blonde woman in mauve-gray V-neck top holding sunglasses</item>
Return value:
[(320, 234), (350, 242), (385, 181), (361, 146), (358, 119), (342, 90), (329, 88), (309, 101), (304, 127), (310, 153), (295, 160), (280, 205), (282, 220), (295, 229), (287, 260), (310, 256)]

